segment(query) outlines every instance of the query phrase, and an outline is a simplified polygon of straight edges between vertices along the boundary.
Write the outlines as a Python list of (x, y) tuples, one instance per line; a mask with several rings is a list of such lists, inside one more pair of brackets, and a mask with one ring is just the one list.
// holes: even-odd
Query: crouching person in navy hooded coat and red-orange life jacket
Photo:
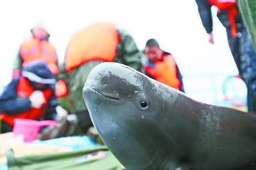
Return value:
[(44, 61), (29, 61), (0, 96), (1, 131), (10, 132), (15, 118), (54, 120), (58, 102), (55, 80)]

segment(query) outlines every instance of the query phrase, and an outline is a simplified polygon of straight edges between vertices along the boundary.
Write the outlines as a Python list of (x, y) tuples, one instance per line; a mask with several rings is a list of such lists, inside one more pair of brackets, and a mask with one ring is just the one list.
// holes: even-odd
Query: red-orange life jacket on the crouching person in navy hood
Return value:
[[(17, 97), (20, 98), (28, 98), (31, 93), (33, 93), (34, 88), (29, 84), (28, 79), (24, 77), (20, 77), (19, 83), (17, 85)], [(49, 102), (49, 99), (52, 95), (51, 89), (45, 89), (42, 91), (45, 97), (45, 103), (40, 107), (39, 109), (31, 107), (29, 111), (21, 112), (19, 114), (1, 114), (2, 120), (7, 123), (8, 125), (14, 124), (15, 118), (26, 118), (31, 120), (38, 120), (39, 118), (42, 118), (45, 114), (45, 109), (47, 107), (47, 103)]]

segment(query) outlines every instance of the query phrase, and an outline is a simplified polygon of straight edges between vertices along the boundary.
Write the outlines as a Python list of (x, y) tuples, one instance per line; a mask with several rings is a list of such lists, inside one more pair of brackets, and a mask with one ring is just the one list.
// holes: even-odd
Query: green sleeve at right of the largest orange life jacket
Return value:
[(138, 49), (131, 35), (124, 30), (118, 30), (120, 42), (118, 43), (116, 59), (118, 63), (122, 63), (132, 68), (142, 71), (141, 52)]

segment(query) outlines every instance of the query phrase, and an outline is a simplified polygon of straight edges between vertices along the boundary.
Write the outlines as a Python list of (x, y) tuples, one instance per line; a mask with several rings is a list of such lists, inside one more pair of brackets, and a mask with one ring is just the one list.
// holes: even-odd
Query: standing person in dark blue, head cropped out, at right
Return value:
[(248, 89), (248, 111), (256, 112), (256, 52), (236, 0), (195, 0), (198, 12), (209, 34), (209, 42), (214, 43), (212, 34), (211, 6), (218, 8), (218, 19), (227, 31), (228, 45), (241, 79)]

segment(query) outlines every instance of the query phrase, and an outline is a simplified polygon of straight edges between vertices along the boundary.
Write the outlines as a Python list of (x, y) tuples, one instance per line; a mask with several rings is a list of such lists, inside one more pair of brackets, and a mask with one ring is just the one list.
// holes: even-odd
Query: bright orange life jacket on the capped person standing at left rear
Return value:
[(43, 59), (49, 66), (52, 74), (56, 75), (59, 72), (56, 50), (51, 43), (45, 40), (32, 38), (28, 42), (24, 42), (20, 46), (20, 55), (22, 64), (34, 59)]

